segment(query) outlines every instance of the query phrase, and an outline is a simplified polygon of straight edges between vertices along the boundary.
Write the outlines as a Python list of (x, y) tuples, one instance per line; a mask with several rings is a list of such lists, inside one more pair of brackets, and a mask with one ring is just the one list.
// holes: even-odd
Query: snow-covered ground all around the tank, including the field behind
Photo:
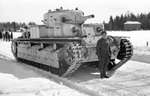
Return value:
[[(150, 41), (148, 38), (150, 31), (108, 32), (108, 34), (130, 36), (134, 46), (146, 46), (145, 41)], [(0, 54), (1, 58), (14, 59), (10, 52), (10, 42), (0, 41)], [(47, 75), (49, 73), (40, 74), (38, 69), (0, 59), (0, 96), (86, 96), (88, 93), (89, 96), (150, 96), (149, 69), (148, 63), (130, 60), (109, 79), (100, 79), (98, 69), (82, 66), (72, 76), (62, 78), (61, 82), (64, 84), (62, 85), (53, 82), (57, 82), (60, 78), (50, 78)], [(86, 94), (70, 88), (85, 91)]]

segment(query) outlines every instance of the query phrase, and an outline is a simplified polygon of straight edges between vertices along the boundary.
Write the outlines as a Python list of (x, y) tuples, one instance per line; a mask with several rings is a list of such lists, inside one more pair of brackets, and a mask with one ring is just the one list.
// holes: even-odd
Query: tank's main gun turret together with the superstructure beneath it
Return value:
[(84, 16), (80, 10), (49, 10), (44, 14), (44, 25), (31, 27), (31, 38), (80, 37), (82, 24), (90, 18), (94, 15)]

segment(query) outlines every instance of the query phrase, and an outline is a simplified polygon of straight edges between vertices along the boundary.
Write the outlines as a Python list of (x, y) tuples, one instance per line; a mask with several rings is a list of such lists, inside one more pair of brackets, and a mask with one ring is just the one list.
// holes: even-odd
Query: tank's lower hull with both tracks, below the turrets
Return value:
[[(126, 39), (120, 39), (118, 43), (111, 41), (109, 43), (111, 51), (116, 53), (111, 56), (108, 72), (114, 73), (112, 71), (131, 58), (133, 49)], [(83, 38), (18, 38), (12, 41), (12, 53), (17, 61), (64, 77), (75, 72), (82, 63), (98, 62), (95, 54), (96, 43), (89, 44)], [(115, 59), (119, 59), (120, 62), (114, 63)]]

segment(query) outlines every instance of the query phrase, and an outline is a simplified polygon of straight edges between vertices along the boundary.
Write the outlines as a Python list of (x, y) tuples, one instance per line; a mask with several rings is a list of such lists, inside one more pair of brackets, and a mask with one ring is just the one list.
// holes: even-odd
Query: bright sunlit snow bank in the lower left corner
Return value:
[(44, 78), (18, 79), (0, 73), (1, 96), (87, 96)]

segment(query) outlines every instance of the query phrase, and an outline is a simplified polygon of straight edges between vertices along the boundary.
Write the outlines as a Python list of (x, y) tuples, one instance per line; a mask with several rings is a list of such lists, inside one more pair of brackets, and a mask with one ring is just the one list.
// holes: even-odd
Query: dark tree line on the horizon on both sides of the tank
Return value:
[[(132, 12), (127, 11), (125, 15), (121, 14), (120, 16), (110, 16), (109, 22), (104, 23), (105, 30), (124, 30), (124, 23), (126, 21), (138, 21), (141, 23), (141, 29), (150, 30), (150, 12), (148, 14), (141, 13), (134, 15)], [(0, 22), (0, 31), (13, 31), (16, 32), (21, 28), (24, 28), (28, 25), (36, 25), (34, 22), (26, 23), (17, 23), (17, 22)]]

